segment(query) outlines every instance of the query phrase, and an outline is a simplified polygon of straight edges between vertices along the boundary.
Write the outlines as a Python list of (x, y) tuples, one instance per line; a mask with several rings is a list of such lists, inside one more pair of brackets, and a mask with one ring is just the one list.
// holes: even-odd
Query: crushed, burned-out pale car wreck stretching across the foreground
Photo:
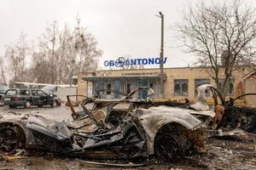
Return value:
[[(198, 88), (195, 104), (154, 102), (151, 88), (137, 88), (121, 99), (101, 99), (100, 93), (85, 97), (67, 96), (73, 121), (58, 122), (35, 114), (0, 116), (0, 150), (18, 148), (47, 150), (69, 156), (134, 158), (157, 156), (160, 160), (203, 149), (209, 132), (222, 123), (225, 102), (211, 85)], [(211, 92), (214, 105), (207, 105)], [(117, 93), (117, 92), (113, 92)], [(145, 99), (140, 94), (147, 94)], [(79, 98), (76, 108), (71, 98)]]

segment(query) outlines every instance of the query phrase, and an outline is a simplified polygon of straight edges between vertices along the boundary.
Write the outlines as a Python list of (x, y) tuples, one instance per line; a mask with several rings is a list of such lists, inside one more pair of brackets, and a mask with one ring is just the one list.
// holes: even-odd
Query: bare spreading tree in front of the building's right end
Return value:
[[(255, 8), (241, 1), (212, 3), (203, 1), (184, 12), (177, 23), (178, 38), (187, 52), (198, 56), (198, 64), (212, 67), (209, 75), (226, 96), (232, 71), (237, 65), (255, 64)], [(220, 69), (224, 67), (224, 81)]]

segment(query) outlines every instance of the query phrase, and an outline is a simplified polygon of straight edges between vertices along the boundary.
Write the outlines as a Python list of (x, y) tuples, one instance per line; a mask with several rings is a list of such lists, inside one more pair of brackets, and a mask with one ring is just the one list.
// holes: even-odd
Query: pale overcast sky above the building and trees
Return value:
[[(208, 0), (206, 0), (208, 1)], [(209, 0), (210, 1), (210, 0)], [(209, 2), (208, 1), (208, 2)], [(248, 3), (253, 1), (245, 0)], [(24, 32), (27, 39), (37, 41), (53, 20), (59, 25), (75, 26), (79, 14), (81, 23), (96, 37), (103, 51), (99, 67), (106, 59), (125, 55), (131, 58), (154, 57), (160, 54), (159, 11), (165, 14), (166, 67), (191, 65), (193, 54), (183, 53), (174, 41), (170, 29), (182, 17), (188, 0), (0, 0), (0, 54)], [(197, 0), (191, 1), (198, 2)]]

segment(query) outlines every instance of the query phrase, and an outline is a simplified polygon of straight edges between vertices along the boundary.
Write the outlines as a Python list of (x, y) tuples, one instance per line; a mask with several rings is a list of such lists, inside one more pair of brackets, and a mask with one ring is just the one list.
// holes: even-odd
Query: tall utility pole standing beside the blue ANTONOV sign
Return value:
[(160, 15), (156, 15), (161, 19), (161, 47), (160, 47), (160, 97), (164, 98), (164, 81), (166, 75), (164, 74), (164, 14), (159, 12)]

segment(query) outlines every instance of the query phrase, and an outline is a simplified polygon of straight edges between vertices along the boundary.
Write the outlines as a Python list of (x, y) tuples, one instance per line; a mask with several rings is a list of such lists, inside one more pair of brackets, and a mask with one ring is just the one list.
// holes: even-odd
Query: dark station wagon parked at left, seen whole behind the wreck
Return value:
[(53, 94), (46, 94), (42, 90), (12, 88), (7, 90), (4, 96), (4, 105), (9, 105), (10, 108), (16, 106), (30, 108), (32, 105), (50, 105), (53, 107), (55, 106), (55, 98)]

